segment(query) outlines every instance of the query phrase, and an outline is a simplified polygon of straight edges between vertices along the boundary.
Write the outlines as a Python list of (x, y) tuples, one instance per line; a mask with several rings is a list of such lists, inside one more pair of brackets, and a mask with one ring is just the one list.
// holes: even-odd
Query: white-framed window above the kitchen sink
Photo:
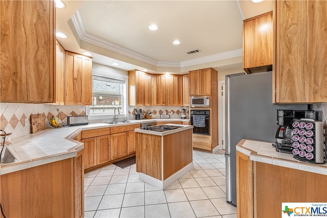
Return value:
[(126, 113), (126, 81), (103, 76), (92, 76), (92, 106), (90, 114), (113, 113), (118, 107)]

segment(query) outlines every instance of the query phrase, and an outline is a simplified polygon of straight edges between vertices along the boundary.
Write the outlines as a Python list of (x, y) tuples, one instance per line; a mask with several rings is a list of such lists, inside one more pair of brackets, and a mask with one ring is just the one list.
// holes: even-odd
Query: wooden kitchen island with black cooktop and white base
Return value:
[(135, 129), (139, 180), (164, 190), (193, 168), (192, 128), (167, 124)]

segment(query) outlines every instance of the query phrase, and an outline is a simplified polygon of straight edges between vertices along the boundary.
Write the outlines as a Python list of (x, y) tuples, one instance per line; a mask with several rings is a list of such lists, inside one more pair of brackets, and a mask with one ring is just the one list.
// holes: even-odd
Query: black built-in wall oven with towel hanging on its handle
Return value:
[(210, 135), (210, 110), (191, 110), (193, 134)]

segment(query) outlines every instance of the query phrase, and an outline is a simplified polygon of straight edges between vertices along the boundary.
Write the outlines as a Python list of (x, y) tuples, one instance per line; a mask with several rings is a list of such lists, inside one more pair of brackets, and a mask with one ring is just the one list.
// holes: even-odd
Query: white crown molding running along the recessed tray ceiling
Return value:
[(223, 59), (227, 59), (227, 58), (239, 57), (239, 56), (243, 55), (243, 50), (239, 49), (239, 50), (233, 50), (233, 51), (229, 51), (229, 52), (225, 52), (225, 53), (196, 58), (196, 59), (182, 61), (182, 62), (157, 61), (157, 60), (154, 60), (147, 56), (144, 56), (139, 53), (128, 50), (125, 47), (116, 45), (114, 43), (111, 43), (109, 41), (101, 39), (97, 36), (86, 33), (79, 10), (76, 11), (76, 13), (72, 16), (71, 20), (76, 29), (77, 35), (81, 40), (89, 42), (94, 45), (98, 45), (100, 47), (103, 47), (104, 49), (111, 50), (113, 52), (125, 55), (130, 58), (134, 58), (139, 61), (143, 61), (145, 63), (151, 64), (151, 65), (154, 65), (157, 67), (187, 67), (187, 66), (192, 66), (192, 65), (196, 65), (196, 64), (202, 64), (202, 63), (207, 63), (207, 62), (223, 60)]

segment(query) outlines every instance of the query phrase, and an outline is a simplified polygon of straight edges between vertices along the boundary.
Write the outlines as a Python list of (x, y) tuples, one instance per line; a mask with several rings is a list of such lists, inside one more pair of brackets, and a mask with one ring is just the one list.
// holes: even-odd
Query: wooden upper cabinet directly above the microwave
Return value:
[[(217, 83), (217, 70), (206, 68), (190, 71), (190, 95), (211, 95), (212, 82)], [(214, 79), (216, 78), (216, 79)]]

